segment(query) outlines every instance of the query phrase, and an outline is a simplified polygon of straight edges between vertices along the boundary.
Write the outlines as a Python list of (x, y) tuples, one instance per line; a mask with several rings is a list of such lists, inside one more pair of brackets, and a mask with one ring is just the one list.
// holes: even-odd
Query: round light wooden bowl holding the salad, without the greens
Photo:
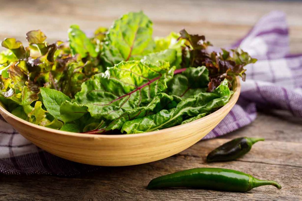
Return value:
[(55, 130), (24, 121), (2, 105), (0, 114), (32, 143), (64, 159), (91, 165), (137, 165), (164, 159), (201, 140), (235, 105), (240, 94), (238, 77), (233, 91), (230, 101), (210, 115), (187, 124), (138, 134), (98, 135)]

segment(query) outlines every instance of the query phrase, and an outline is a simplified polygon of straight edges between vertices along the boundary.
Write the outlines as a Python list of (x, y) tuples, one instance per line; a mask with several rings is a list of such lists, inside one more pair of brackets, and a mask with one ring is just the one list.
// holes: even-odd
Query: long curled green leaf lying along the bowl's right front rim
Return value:
[(127, 121), (121, 131), (141, 133), (181, 124), (184, 118), (196, 117), (225, 105), (230, 99), (230, 94), (228, 82), (224, 80), (212, 93), (199, 93), (193, 98), (183, 99), (176, 108), (164, 109), (154, 115)]

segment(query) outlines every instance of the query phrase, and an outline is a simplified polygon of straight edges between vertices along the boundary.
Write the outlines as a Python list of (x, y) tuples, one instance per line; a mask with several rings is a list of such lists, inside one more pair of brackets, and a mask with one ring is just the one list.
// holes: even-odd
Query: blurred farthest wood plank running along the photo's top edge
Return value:
[[(2, 11), (22, 12), (22, 14), (61, 14), (62, 17), (85, 18), (91, 21), (100, 19), (115, 19), (121, 14), (143, 10), (153, 20), (204, 22), (212, 21), (222, 24), (254, 24), (264, 14), (272, 10), (284, 11), (288, 14), (290, 25), (302, 25), (300, 20), (301, 2), (278, 1), (91, 1), (81, 0), (53, 0), (53, 1), (10, 1), (2, 0)], [(11, 15), (13, 15), (12, 12)], [(249, 16), (243, 17), (243, 16)], [(51, 22), (50, 22), (51, 23)]]

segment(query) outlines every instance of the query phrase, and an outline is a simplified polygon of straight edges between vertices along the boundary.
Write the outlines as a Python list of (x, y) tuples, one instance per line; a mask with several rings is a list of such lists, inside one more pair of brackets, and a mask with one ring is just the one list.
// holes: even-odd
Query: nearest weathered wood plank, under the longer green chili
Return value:
[[(175, 156), (159, 162), (130, 167), (106, 167), (84, 178), (48, 176), (1, 178), (0, 200), (270, 200), (301, 199), (302, 168), (249, 162), (200, 164), (198, 157)], [(146, 190), (148, 182), (157, 176), (194, 167), (223, 167), (245, 171), (259, 178), (275, 179), (282, 190), (265, 186), (248, 193), (209, 190), (169, 189)]]

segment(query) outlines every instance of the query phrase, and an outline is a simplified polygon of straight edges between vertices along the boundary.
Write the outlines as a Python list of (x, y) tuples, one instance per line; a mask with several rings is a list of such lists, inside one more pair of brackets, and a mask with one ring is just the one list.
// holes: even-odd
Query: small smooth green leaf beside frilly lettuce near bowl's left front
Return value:
[(40, 94), (43, 104), (49, 114), (51, 114), (54, 118), (61, 120), (60, 106), (63, 102), (70, 101), (70, 98), (60, 91), (45, 87), (40, 88)]

